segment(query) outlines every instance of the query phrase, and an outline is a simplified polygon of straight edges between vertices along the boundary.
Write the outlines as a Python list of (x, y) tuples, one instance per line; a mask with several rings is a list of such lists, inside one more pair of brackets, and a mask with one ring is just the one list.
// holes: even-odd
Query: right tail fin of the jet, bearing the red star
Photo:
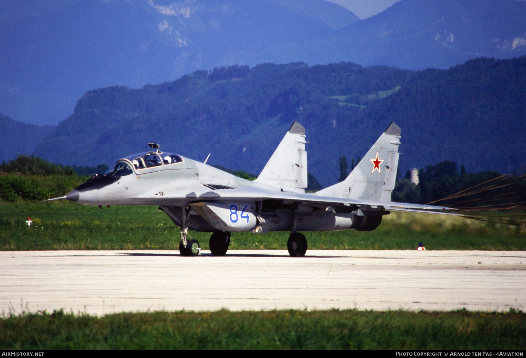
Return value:
[(400, 127), (392, 122), (345, 181), (315, 195), (390, 202), (398, 169), (400, 133)]

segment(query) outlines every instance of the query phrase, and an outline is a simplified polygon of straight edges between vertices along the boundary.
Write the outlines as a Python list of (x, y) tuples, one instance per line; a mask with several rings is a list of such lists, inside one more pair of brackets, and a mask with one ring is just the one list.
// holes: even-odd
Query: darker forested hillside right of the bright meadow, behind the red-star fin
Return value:
[(508, 173), (526, 165), (526, 57), (415, 72), (362, 115), (400, 125), (404, 169), (454, 160), (468, 172)]

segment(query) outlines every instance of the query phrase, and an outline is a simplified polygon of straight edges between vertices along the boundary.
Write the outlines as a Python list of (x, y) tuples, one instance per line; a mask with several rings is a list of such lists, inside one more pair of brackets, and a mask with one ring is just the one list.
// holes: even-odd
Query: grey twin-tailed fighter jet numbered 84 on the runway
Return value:
[(307, 240), (298, 231), (371, 231), (390, 210), (452, 214), (440, 206), (391, 202), (400, 132), (391, 123), (345, 181), (317, 193), (305, 193), (308, 142), (305, 128), (294, 122), (254, 181), (148, 143), (151, 151), (118, 160), (61, 198), (99, 207), (158, 205), (181, 227), (183, 256), (200, 251), (197, 240), (187, 239), (191, 229), (212, 233), (215, 256), (226, 254), (232, 232), (290, 231), (289, 254), (299, 257)]

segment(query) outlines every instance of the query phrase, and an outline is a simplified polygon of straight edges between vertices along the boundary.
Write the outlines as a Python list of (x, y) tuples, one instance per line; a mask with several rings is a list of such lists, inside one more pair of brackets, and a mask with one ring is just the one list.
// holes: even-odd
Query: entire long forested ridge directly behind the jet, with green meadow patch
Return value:
[(196, 71), (143, 89), (89, 91), (35, 155), (110, 164), (147, 142), (196, 160), (259, 173), (289, 128), (307, 129), (309, 172), (337, 182), (338, 158), (363, 156), (391, 121), (400, 170), (443, 160), (469, 172), (526, 165), (526, 57), (474, 59), (413, 72), (351, 63)]

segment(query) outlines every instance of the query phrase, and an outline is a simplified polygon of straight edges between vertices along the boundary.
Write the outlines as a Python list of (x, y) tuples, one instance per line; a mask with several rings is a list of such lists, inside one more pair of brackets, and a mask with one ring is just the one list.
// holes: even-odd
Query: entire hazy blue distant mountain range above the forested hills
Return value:
[(422, 70), (526, 54), (515, 0), (401, 0), (365, 20), (323, 0), (49, 0), (16, 16), (11, 1), (0, 4), (0, 111), (34, 124), (65, 119), (88, 90), (233, 64)]

